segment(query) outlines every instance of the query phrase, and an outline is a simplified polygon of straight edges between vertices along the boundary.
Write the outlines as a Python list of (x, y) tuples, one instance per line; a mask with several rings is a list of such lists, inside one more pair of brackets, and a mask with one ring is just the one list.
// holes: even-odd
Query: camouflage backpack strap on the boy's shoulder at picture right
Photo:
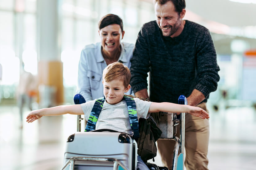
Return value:
[(132, 97), (124, 96), (124, 99), (126, 101), (127, 108), (128, 108), (130, 125), (134, 132), (133, 137), (134, 139), (137, 139), (140, 137), (140, 133), (139, 133), (139, 121), (137, 117), (136, 103)]

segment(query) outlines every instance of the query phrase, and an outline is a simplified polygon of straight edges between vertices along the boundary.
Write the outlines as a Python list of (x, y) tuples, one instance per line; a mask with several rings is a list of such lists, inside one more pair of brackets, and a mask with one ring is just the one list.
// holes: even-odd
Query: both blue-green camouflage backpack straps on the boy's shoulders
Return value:
[[(124, 96), (123, 100), (125, 100), (126, 104), (127, 104), (129, 121), (130, 121), (131, 128), (134, 132), (133, 138), (137, 139), (140, 137), (140, 134), (139, 134), (139, 122), (138, 122), (138, 117), (137, 117), (136, 103), (135, 103), (134, 99), (129, 96)], [(101, 109), (103, 107), (104, 101), (105, 101), (105, 98), (99, 98), (95, 101), (95, 103), (92, 107), (90, 116), (88, 118), (86, 128), (84, 130), (85, 132), (95, 130), (96, 123), (97, 123), (98, 117), (101, 113)]]

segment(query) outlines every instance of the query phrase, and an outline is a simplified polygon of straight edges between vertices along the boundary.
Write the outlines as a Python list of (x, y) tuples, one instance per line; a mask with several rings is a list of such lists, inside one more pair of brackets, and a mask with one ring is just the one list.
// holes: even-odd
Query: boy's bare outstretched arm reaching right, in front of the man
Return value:
[(149, 113), (154, 112), (170, 112), (170, 113), (190, 113), (193, 116), (200, 117), (202, 119), (209, 118), (209, 114), (202, 108), (174, 103), (156, 103), (152, 102), (149, 107)]

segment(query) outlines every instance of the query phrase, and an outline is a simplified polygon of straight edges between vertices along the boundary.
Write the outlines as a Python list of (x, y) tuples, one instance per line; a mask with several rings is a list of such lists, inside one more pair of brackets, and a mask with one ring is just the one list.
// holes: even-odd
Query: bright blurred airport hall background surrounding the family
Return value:
[[(186, 0), (184, 19), (210, 30), (220, 66), (207, 102), (209, 169), (256, 167), (255, 9), (256, 0)], [(61, 168), (76, 116), (31, 124), (25, 117), (31, 108), (74, 103), (81, 50), (100, 41), (97, 23), (108, 13), (123, 19), (128, 43), (155, 20), (153, 0), (0, 0), (0, 169)]]

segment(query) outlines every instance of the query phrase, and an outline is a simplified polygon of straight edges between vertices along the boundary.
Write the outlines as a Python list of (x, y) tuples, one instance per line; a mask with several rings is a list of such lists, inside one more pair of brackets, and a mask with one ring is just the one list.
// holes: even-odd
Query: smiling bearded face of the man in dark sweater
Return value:
[(172, 36), (181, 26), (182, 19), (171, 1), (163, 5), (155, 3), (155, 15), (163, 36)]

